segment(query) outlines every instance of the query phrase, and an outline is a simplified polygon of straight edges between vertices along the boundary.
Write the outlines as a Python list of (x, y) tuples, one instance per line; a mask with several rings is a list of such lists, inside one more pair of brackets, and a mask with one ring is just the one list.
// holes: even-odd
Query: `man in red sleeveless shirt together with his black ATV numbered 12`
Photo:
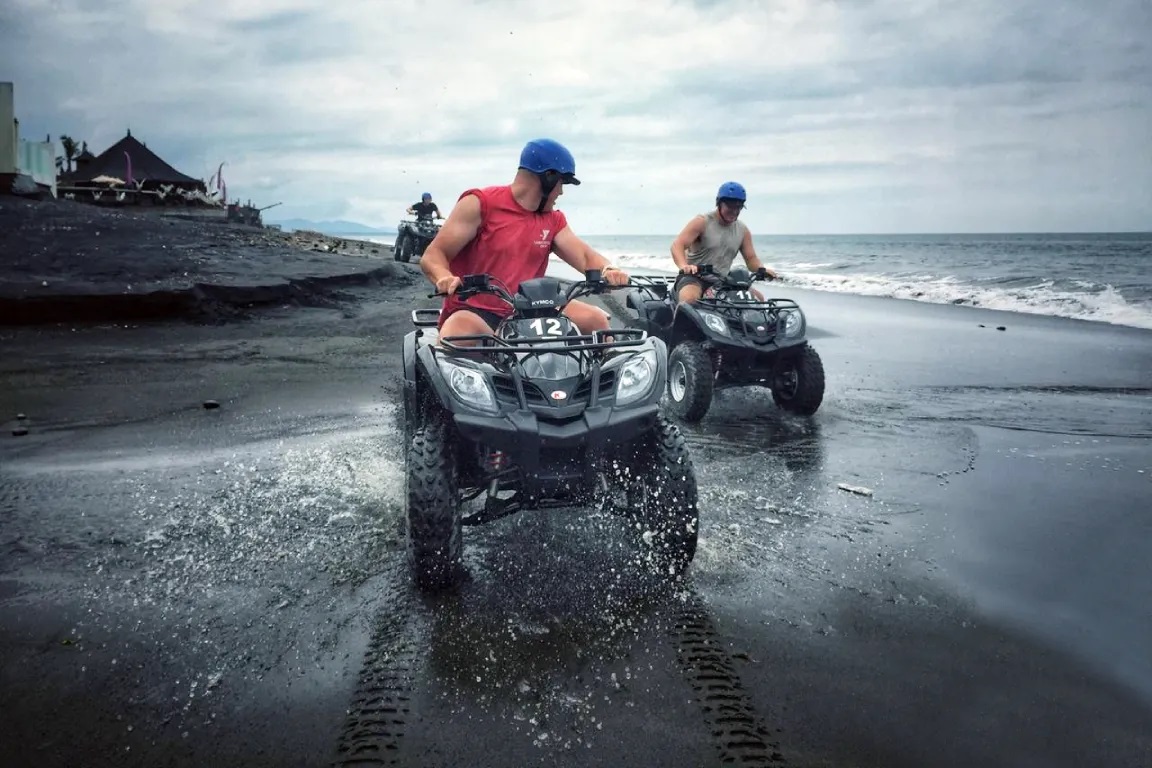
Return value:
[[(403, 345), (408, 556), (422, 588), (458, 581), (464, 526), (520, 510), (627, 516), (637, 562), (675, 578), (696, 553), (695, 470), (660, 413), (665, 344), (578, 301), (629, 276), (555, 210), (575, 173), (567, 149), (529, 142), (511, 183), (463, 192), (420, 259), (430, 297), (445, 297), (412, 311)], [(553, 252), (584, 280), (547, 276)]]

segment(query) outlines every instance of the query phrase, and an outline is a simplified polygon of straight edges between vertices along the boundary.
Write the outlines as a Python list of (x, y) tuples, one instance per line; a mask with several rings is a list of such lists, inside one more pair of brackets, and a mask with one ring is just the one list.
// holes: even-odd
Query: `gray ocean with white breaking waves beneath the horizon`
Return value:
[[(583, 237), (624, 268), (673, 272), (674, 235)], [(755, 243), (797, 288), (1152, 329), (1152, 233), (758, 235)], [(570, 269), (558, 261), (555, 272)]]

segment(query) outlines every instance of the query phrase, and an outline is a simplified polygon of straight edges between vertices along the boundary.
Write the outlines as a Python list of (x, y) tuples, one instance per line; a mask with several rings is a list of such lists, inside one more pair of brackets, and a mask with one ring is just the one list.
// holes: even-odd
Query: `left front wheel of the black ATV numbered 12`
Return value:
[(408, 563), (422, 590), (453, 586), (463, 565), (456, 455), (448, 426), (432, 419), (408, 446)]

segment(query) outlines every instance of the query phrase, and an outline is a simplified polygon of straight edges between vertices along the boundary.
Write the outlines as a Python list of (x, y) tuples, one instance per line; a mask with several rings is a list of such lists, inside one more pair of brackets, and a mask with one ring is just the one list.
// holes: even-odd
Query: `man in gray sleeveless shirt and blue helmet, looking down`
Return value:
[[(740, 221), (748, 195), (734, 181), (725, 182), (717, 192), (715, 211), (692, 216), (683, 231), (672, 243), (672, 260), (682, 273), (673, 292), (677, 302), (695, 302), (704, 292), (704, 281), (695, 276), (702, 264), (711, 264), (720, 274), (728, 274), (736, 253), (744, 257), (749, 272), (763, 265), (752, 246), (752, 233)], [(765, 267), (770, 277), (776, 273)], [(759, 291), (756, 291), (759, 296)], [(760, 297), (763, 298), (763, 296)]]

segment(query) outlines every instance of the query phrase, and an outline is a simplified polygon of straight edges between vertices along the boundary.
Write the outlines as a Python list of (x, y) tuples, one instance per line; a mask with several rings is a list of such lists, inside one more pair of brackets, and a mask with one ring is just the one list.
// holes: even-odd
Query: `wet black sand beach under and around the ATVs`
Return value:
[[(400, 705), (374, 765), (1152, 765), (1152, 332), (773, 284), (825, 404), (729, 393), (685, 427), (683, 592), (540, 515), (469, 531), (472, 581), (427, 603), (395, 421), (414, 266), (91, 214), (104, 250), (9, 206), (6, 765), (331, 765), (367, 690)], [(192, 298), (29, 322), (81, 311), (45, 281)]]

